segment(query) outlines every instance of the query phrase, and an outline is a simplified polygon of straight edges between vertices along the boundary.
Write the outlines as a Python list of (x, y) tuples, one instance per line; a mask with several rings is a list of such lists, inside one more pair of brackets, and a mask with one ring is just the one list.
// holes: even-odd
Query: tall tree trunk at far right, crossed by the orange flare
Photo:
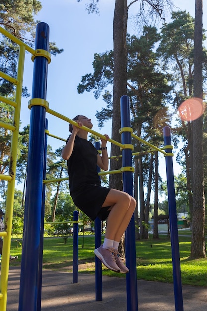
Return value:
[[(203, 98), (202, 91), (202, 0), (195, 1), (194, 29), (194, 97)], [(206, 258), (204, 239), (204, 171), (203, 118), (192, 121), (193, 135), (193, 217), (191, 258)]]

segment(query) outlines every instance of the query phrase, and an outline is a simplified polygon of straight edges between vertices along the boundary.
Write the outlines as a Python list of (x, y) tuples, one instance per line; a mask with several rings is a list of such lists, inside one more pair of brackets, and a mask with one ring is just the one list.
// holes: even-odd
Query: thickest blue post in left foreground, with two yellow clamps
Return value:
[[(49, 49), (49, 26), (45, 23), (37, 25), (35, 49), (47, 51)], [(44, 56), (35, 57), (32, 98), (46, 100), (47, 69), (47, 58)], [(37, 310), (45, 110), (43, 106), (34, 105), (31, 107), (19, 311)]]

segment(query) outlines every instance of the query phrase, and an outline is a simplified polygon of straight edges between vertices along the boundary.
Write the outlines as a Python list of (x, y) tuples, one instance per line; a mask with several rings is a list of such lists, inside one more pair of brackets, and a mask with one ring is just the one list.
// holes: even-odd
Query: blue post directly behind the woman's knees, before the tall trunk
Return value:
[[(131, 127), (129, 97), (124, 95), (120, 100), (121, 104), (121, 128)], [(121, 134), (122, 144), (131, 144), (131, 132)], [(122, 166), (132, 167), (132, 150), (122, 150)], [(123, 172), (123, 190), (133, 196), (133, 175), (131, 171)], [(127, 311), (138, 311), (137, 293), (137, 270), (136, 270), (136, 249), (135, 249), (135, 218), (134, 215), (125, 232), (126, 266), (129, 272), (127, 279)]]

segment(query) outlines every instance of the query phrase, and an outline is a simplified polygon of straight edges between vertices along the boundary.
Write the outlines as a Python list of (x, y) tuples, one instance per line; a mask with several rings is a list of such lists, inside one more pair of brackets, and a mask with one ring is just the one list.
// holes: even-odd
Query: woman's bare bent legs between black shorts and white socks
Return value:
[(120, 242), (134, 213), (136, 200), (126, 192), (111, 189), (104, 201), (104, 206), (111, 206), (105, 238)]

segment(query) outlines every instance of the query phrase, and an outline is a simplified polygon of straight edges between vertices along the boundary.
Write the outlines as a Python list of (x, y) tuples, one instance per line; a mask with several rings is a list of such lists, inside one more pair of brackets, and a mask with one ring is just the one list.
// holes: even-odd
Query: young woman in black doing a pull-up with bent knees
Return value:
[(103, 170), (108, 169), (106, 143), (109, 136), (105, 134), (105, 139), (101, 138), (100, 156), (87, 140), (88, 132), (81, 129), (83, 125), (91, 129), (91, 119), (78, 115), (73, 120), (80, 128), (69, 125), (72, 134), (62, 150), (62, 157), (68, 164), (70, 195), (75, 205), (92, 220), (96, 217), (107, 219), (104, 243), (94, 253), (107, 268), (127, 273), (129, 270), (119, 256), (118, 246), (134, 213), (136, 201), (128, 193), (101, 186), (97, 165)]

